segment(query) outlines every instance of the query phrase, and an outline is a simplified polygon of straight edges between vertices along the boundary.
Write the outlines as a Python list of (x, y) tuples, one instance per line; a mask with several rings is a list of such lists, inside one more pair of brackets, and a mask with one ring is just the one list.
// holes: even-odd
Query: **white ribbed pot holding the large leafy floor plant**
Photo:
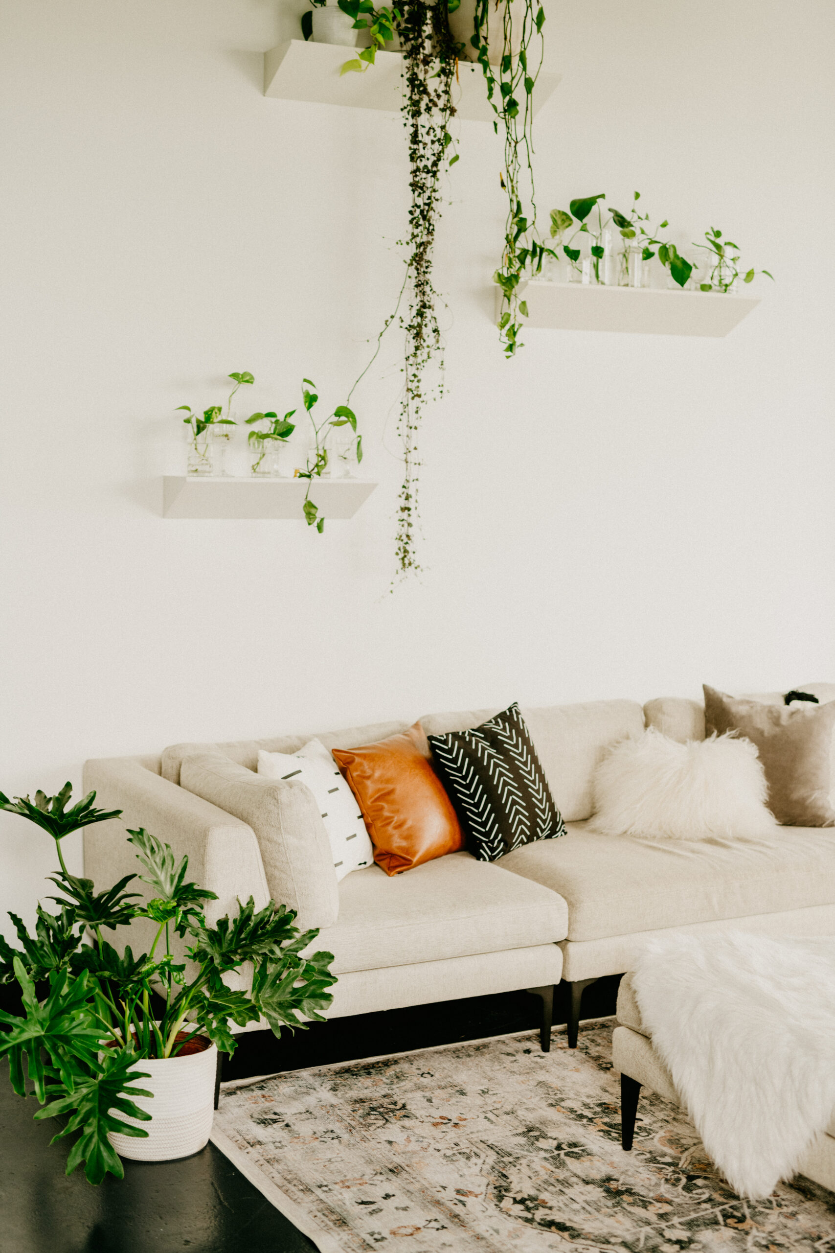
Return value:
[(136, 1069), (146, 1070), (150, 1079), (138, 1079), (135, 1086), (146, 1088), (154, 1096), (134, 1100), (151, 1115), (151, 1121), (119, 1115), (125, 1123), (148, 1131), (148, 1139), (111, 1131), (108, 1139), (119, 1157), (134, 1162), (173, 1162), (205, 1148), (214, 1119), (217, 1065), (218, 1050), (213, 1044), (185, 1058), (138, 1061)]

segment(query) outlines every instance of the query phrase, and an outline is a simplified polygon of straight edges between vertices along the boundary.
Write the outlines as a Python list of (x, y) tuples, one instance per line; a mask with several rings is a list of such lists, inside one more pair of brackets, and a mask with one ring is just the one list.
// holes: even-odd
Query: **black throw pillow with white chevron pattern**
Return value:
[(565, 836), (525, 718), (515, 703), (472, 730), (429, 736), (439, 773), (479, 861)]

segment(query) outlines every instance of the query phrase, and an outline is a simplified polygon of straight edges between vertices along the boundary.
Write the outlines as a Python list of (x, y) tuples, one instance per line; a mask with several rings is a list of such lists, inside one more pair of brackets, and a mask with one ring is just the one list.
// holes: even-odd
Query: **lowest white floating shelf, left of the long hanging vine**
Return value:
[[(323, 517), (353, 517), (377, 486), (367, 479), (317, 479), (310, 500)], [(294, 517), (304, 521), (307, 479), (237, 479), (166, 475), (165, 517)]]

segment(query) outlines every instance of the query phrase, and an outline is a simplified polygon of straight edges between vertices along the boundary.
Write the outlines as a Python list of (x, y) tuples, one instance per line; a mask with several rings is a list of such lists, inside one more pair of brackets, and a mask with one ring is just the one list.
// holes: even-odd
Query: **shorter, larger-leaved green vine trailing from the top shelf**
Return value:
[[(488, 16), (491, 10), (501, 14), (502, 56), (498, 65), (491, 65), (487, 46)], [(505, 172), (499, 174), (502, 189), (507, 193), (507, 218), (505, 221), (505, 247), (502, 264), (494, 279), (502, 289), (502, 307), (498, 320), (505, 355), (512, 357), (518, 347), (522, 330), (521, 317), (527, 317), (527, 306), (520, 299), (520, 283), (526, 269), (538, 273), (548, 253), (537, 234), (536, 190), (533, 184), (533, 88), (540, 76), (545, 55), (542, 28), (545, 9), (540, 0), (518, 0), (520, 18), (513, 19), (513, 0), (476, 0), (474, 30), (471, 39), (478, 54), (478, 63), (487, 80), (487, 98), (496, 118), (493, 129), (498, 134), (501, 120), (505, 130)], [(513, 55), (515, 35), (520, 51)], [(538, 63), (530, 50), (538, 40)]]

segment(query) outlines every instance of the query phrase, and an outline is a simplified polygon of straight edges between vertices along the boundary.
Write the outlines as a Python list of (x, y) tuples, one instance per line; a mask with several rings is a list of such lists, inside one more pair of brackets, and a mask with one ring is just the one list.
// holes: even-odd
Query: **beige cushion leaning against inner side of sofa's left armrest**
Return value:
[(269, 895), (298, 913), (297, 925), (330, 927), (339, 892), (330, 842), (315, 798), (293, 779), (254, 774), (220, 752), (185, 757), (180, 787), (248, 823), (260, 848)]

